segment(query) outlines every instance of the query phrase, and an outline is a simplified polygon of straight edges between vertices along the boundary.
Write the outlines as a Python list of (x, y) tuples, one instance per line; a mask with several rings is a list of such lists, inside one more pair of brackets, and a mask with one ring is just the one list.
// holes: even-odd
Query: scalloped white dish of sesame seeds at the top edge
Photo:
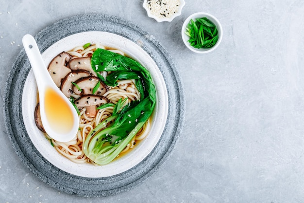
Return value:
[[(163, 22), (163, 21), (171, 22), (174, 18), (182, 14), (182, 9), (185, 6), (185, 0), (179, 0), (180, 2), (178, 6), (174, 5), (175, 0), (168, 0), (167, 3), (159, 0), (158, 1), (154, 0), (157, 3), (159, 3), (159, 6), (157, 5), (154, 9), (152, 8), (151, 1), (153, 0), (144, 0), (142, 6), (144, 7), (144, 9), (146, 9), (148, 17), (154, 18), (157, 22)], [(170, 11), (174, 11), (176, 9), (177, 11), (173, 15), (169, 13)], [(156, 14), (157, 10), (159, 10), (161, 15), (158, 15), (158, 13)], [(169, 15), (166, 16), (168, 13)]]

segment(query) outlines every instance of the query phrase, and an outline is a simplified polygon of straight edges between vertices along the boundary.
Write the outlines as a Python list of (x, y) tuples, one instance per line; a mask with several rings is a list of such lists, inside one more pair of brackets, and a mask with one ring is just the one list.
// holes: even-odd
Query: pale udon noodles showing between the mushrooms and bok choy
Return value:
[[(72, 56), (71, 59), (77, 57), (92, 57), (92, 54), (97, 48), (106, 49), (105, 47), (101, 46), (100, 44), (91, 44), (87, 48), (84, 49), (83, 46), (75, 47), (73, 50), (68, 51), (68, 54)], [(107, 49), (108, 51), (118, 53), (120, 55), (124, 55), (123, 52), (116, 49)], [(101, 75), (106, 77), (108, 73), (102, 72)], [(77, 94), (72, 93), (71, 95), (74, 99), (80, 97)], [(103, 94), (102, 96), (109, 99), (109, 101), (113, 104), (116, 104), (119, 99), (124, 100), (127, 98), (126, 102), (123, 106), (127, 105), (131, 101), (139, 100), (140, 93), (135, 87), (135, 81), (131, 80), (120, 80), (118, 81), (118, 85), (116, 87), (109, 87), (109, 90)], [(93, 161), (87, 158), (83, 151), (83, 142), (86, 136), (102, 121), (112, 115), (114, 106), (109, 106), (97, 111), (95, 117), (89, 117), (85, 113), (85, 107), (80, 111), (79, 115), (79, 130), (75, 138), (69, 142), (58, 142), (53, 140), (49, 135), (46, 133), (47, 139), (49, 139), (54, 146), (54, 148), (63, 156), (67, 157), (69, 160), (75, 163), (92, 163), (96, 165)], [(128, 152), (132, 149), (137, 141), (144, 139), (148, 132), (150, 131), (151, 127), (151, 119), (145, 123), (145, 125), (138, 131), (136, 136), (132, 139), (132, 141), (124, 148), (120, 154)]]

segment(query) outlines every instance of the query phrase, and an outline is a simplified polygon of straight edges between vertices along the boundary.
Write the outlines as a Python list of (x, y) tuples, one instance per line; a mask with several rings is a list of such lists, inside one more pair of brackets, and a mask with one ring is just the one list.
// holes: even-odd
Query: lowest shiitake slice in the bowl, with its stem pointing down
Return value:
[(82, 109), (85, 108), (85, 114), (93, 118), (96, 116), (96, 107), (101, 104), (109, 103), (109, 99), (101, 95), (84, 94), (74, 102), (79, 111), (82, 111)]

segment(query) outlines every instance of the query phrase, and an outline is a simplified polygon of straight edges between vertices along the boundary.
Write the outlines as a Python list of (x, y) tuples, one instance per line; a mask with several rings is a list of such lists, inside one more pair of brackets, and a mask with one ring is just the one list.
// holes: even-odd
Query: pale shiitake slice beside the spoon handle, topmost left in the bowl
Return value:
[(66, 66), (71, 57), (67, 52), (62, 52), (54, 57), (49, 65), (48, 71), (58, 88), (61, 86), (61, 80), (71, 72)]

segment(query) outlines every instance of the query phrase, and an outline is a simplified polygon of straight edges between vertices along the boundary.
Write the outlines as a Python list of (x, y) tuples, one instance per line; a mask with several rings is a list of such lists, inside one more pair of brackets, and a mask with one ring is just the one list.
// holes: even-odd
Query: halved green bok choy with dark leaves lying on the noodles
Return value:
[[(104, 83), (115, 86), (118, 79), (134, 79), (140, 100), (125, 105), (120, 99), (113, 114), (93, 129), (84, 140), (84, 154), (99, 165), (115, 159), (152, 114), (156, 91), (149, 71), (135, 60), (107, 50), (97, 49), (91, 59), (96, 72), (109, 73)], [(104, 108), (104, 107), (99, 107)]]

